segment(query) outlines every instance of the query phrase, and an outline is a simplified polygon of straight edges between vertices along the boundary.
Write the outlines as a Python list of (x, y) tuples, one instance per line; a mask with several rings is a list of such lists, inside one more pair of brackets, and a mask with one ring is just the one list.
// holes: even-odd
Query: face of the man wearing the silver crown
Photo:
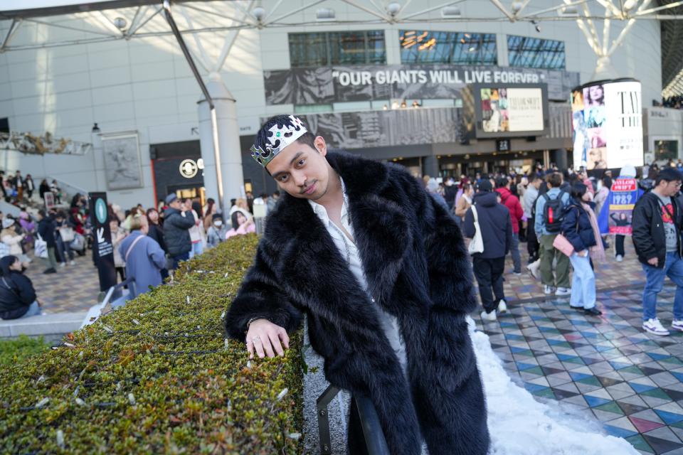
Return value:
[(314, 145), (315, 148), (299, 142), (290, 144), (266, 166), (277, 185), (295, 198), (317, 200), (327, 193), (327, 144), (318, 136)]

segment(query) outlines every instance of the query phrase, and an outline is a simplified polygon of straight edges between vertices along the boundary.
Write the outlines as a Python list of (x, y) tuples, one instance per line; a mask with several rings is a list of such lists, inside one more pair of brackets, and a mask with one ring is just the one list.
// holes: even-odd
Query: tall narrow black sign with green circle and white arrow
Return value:
[(100, 276), (100, 291), (107, 291), (116, 285), (116, 268), (114, 266), (114, 246), (112, 232), (109, 228), (109, 212), (107, 210), (107, 193), (88, 193), (90, 196), (90, 220), (95, 235), (95, 263)]

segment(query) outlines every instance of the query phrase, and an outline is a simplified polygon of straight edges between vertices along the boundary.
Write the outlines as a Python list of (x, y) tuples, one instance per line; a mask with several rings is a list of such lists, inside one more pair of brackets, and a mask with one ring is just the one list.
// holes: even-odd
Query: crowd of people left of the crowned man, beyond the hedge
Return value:
[[(17, 196), (20, 192), (14, 193), (15, 180), (22, 182), (18, 188), (28, 188), (26, 181), (30, 179), (27, 176), (22, 180), (20, 175), (17, 172), (14, 180), (5, 178), (3, 181), (4, 189), (15, 203), (22, 199)], [(42, 186), (41, 183), (41, 193)], [(58, 189), (47, 188), (46, 191), (59, 194)], [(22, 196), (31, 198), (30, 193)], [(156, 208), (147, 210), (142, 204), (130, 210), (110, 204), (109, 224), (117, 282), (133, 277), (134, 286), (128, 287), (129, 296), (133, 298), (148, 291), (149, 287), (162, 284), (179, 262), (200, 255), (206, 248), (216, 247), (235, 235), (255, 232), (253, 205), (265, 205), (268, 213), (275, 207), (280, 193), (275, 191), (270, 196), (262, 194), (253, 198), (248, 192), (246, 196), (231, 200), (227, 213), (221, 213), (211, 198), (201, 205), (198, 198), (181, 199), (174, 193), (160, 200)], [(33, 216), (22, 205), (17, 218), (0, 213), (0, 224), (0, 319), (40, 314), (36, 291), (23, 272), (32, 260), (41, 258), (47, 264), (44, 274), (58, 273), (59, 269), (75, 264), (75, 255), (87, 254), (94, 240), (87, 198), (76, 194), (68, 210), (41, 209)], [(31, 250), (33, 258), (29, 255)], [(97, 265), (94, 250), (92, 259)]]

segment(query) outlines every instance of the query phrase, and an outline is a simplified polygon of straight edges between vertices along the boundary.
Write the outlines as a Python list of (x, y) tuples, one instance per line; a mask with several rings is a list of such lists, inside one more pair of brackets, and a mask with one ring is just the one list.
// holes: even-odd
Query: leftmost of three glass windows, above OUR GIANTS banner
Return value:
[(385, 64), (384, 32), (290, 33), (292, 68)]

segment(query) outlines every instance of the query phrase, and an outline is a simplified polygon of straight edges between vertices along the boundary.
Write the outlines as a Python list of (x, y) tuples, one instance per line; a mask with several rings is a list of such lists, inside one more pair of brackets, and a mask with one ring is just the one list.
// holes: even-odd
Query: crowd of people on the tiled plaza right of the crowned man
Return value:
[[(633, 200), (632, 215), (609, 213), (613, 225), (632, 225), (632, 240), (645, 272), (642, 298), (643, 330), (669, 335), (657, 319), (657, 294), (668, 276), (677, 285), (672, 330), (683, 331), (683, 164), (669, 161), (644, 166), (637, 179), (640, 197)], [(623, 168), (636, 177), (635, 168)], [(483, 321), (496, 321), (507, 311), (504, 295), (505, 260), (510, 273), (521, 274), (519, 242), (526, 242), (529, 273), (540, 280), (544, 294), (569, 297), (568, 305), (588, 316), (600, 316), (595, 267), (606, 259), (610, 237), (600, 229), (598, 217), (613, 186), (612, 171), (588, 176), (581, 168), (560, 172), (541, 166), (524, 174), (477, 174), (443, 184), (425, 176), (425, 189), (455, 217), (468, 239), (472, 268), (479, 286)], [(625, 256), (625, 235), (614, 235), (616, 262)], [(680, 294), (680, 295), (679, 295)]]

